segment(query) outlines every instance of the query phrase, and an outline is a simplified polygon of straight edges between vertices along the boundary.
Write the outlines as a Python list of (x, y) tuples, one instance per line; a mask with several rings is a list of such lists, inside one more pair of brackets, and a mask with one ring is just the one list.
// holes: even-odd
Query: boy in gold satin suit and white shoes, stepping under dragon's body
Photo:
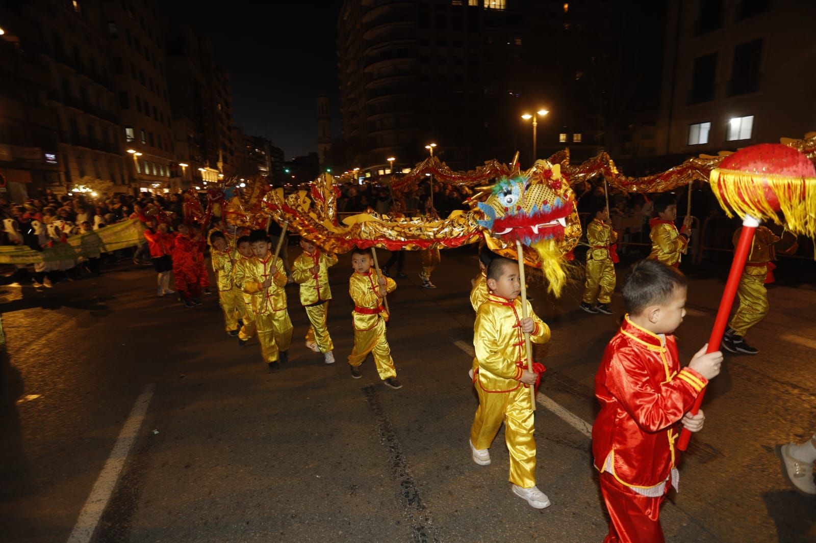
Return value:
[(312, 323), (306, 333), (306, 347), (322, 352), (326, 364), (334, 364), (335, 353), (332, 351), (335, 344), (331, 342), (329, 329), (326, 327), (326, 315), (331, 299), (329, 267), (337, 263), (337, 256), (322, 252), (303, 237), (300, 238), (300, 246), (304, 252), (295, 258), (292, 277), (300, 285), (300, 303)]

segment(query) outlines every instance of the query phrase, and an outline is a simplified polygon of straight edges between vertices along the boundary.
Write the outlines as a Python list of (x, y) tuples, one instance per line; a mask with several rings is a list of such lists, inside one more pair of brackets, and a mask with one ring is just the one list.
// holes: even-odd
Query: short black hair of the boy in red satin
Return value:
[(623, 303), (629, 315), (640, 315), (647, 307), (667, 303), (675, 289), (685, 289), (688, 282), (675, 268), (658, 260), (635, 263), (623, 280)]

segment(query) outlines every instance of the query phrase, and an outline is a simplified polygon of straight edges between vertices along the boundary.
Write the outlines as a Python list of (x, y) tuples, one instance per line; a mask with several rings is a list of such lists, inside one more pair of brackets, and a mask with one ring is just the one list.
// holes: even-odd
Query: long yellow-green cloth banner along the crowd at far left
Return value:
[(81, 256), (92, 257), (144, 243), (144, 225), (139, 219), (113, 223), (93, 232), (70, 236), (66, 243), (35, 251), (26, 245), (0, 246), (0, 264), (56, 262)]

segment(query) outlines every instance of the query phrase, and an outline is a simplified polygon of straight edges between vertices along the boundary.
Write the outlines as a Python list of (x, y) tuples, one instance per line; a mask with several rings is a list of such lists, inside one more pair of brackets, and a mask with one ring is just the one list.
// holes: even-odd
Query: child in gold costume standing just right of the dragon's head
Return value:
[(614, 242), (618, 241), (618, 233), (612, 229), (611, 223), (606, 206), (603, 206), (598, 208), (595, 218), (587, 225), (587, 280), (583, 287), (581, 309), (588, 313), (612, 315), (610, 302), (615, 284), (614, 263), (618, 261)]

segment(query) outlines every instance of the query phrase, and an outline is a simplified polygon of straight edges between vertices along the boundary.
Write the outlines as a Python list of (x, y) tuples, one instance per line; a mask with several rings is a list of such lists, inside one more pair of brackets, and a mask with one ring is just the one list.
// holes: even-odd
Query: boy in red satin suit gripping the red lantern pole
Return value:
[(601, 412), (592, 425), (592, 456), (610, 514), (604, 541), (663, 541), (660, 505), (677, 488), (676, 423), (703, 428), (703, 411), (687, 413), (722, 353), (703, 345), (681, 369), (672, 333), (685, 316), (685, 276), (657, 260), (632, 266), (623, 281), (628, 314), (604, 351), (595, 376)]

